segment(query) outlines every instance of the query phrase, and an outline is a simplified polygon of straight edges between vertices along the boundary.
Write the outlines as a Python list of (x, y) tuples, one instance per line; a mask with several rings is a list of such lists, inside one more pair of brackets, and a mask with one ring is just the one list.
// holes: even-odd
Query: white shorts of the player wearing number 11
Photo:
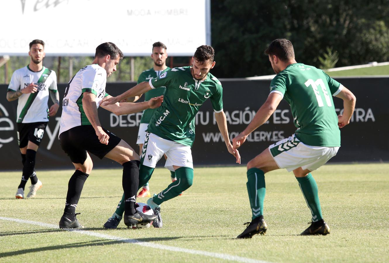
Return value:
[(340, 147), (309, 146), (305, 145), (293, 134), (269, 146), (278, 167), (288, 172), (301, 167), (303, 170), (314, 171), (334, 157)]

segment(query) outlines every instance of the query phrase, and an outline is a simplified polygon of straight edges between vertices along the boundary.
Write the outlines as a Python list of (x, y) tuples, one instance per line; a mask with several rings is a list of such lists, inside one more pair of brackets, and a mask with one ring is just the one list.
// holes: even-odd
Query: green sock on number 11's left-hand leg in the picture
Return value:
[(258, 168), (247, 170), (247, 192), (252, 212), (252, 219), (263, 216), (263, 200), (265, 200), (265, 173)]

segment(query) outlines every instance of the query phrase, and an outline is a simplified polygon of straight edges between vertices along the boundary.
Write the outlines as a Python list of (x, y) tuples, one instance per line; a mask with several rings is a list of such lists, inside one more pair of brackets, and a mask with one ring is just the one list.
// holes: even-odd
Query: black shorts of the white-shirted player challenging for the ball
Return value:
[(60, 134), (61, 148), (75, 164), (84, 164), (87, 151), (102, 159), (121, 141), (112, 132), (103, 130), (109, 136), (108, 145), (100, 143), (92, 125), (81, 125)]

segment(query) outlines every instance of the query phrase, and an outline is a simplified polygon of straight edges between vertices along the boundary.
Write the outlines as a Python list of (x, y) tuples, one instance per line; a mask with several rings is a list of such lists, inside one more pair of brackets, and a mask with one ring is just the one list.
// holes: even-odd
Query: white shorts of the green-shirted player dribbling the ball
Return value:
[(140, 155), (140, 163), (155, 168), (157, 162), (164, 154), (167, 157), (165, 167), (170, 171), (174, 171), (173, 165), (193, 169), (190, 146), (182, 145), (176, 141), (166, 140), (147, 132)]

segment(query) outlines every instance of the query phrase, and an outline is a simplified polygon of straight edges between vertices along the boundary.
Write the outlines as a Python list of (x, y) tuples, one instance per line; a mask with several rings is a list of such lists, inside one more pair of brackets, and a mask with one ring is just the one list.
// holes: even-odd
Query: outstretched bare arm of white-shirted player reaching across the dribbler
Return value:
[[(107, 96), (112, 97), (112, 96)], [(107, 105), (107, 106), (101, 106), (105, 110), (109, 110), (112, 113), (115, 113), (116, 115), (123, 115), (123, 114), (131, 114), (131, 113), (137, 113), (146, 109), (155, 109), (161, 106), (163, 102), (163, 95), (151, 98), (149, 101), (144, 102), (138, 102), (138, 103), (131, 103), (131, 102), (122, 102), (122, 103), (115, 103), (113, 105)]]

